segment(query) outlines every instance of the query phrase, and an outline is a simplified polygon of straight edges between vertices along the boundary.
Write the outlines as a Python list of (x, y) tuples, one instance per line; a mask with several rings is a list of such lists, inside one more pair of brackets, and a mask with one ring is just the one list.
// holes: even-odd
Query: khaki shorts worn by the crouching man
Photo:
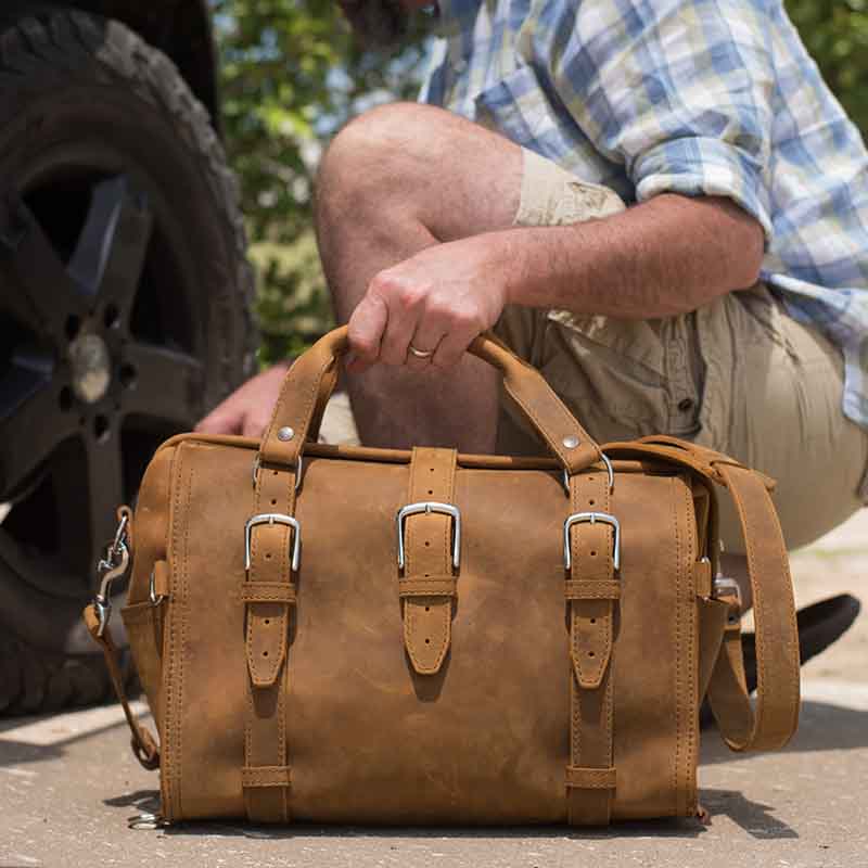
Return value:
[[(516, 225), (574, 224), (623, 207), (611, 190), (525, 151)], [(868, 501), (868, 432), (843, 416), (841, 353), (763, 284), (658, 320), (510, 307), (495, 331), (598, 442), (672, 434), (776, 478), (790, 548)], [(501, 407), (498, 450), (538, 454), (524, 419), (508, 400)], [(727, 500), (724, 542), (743, 552)]]

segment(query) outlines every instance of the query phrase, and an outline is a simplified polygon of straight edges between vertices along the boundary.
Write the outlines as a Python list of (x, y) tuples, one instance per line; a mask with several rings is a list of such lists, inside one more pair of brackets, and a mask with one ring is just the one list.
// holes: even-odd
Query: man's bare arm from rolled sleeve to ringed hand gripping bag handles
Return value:
[(349, 320), (359, 371), (457, 365), (505, 305), (625, 319), (694, 310), (760, 271), (760, 224), (726, 199), (661, 194), (601, 220), (514, 228), (425, 247), (381, 271)]

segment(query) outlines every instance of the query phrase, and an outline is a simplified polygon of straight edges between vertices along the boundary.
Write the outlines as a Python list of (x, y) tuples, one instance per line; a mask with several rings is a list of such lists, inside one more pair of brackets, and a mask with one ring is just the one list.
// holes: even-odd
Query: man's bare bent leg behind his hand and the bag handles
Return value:
[[(316, 192), (339, 321), (383, 269), (432, 244), (509, 228), (521, 179), (518, 145), (439, 108), (387, 105), (350, 123), (323, 157)], [(497, 371), (470, 356), (446, 374), (427, 362), (414, 367), (347, 374), (362, 443), (494, 451)]]

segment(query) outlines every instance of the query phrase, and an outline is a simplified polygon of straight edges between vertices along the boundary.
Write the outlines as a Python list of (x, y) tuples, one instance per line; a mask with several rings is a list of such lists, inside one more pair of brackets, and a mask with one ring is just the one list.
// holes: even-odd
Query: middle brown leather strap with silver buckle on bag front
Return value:
[(461, 513), (450, 502), (456, 463), (455, 449), (414, 448), (410, 502), (397, 515), (404, 644), (419, 675), (439, 672), (451, 641), (454, 571), (461, 562)]

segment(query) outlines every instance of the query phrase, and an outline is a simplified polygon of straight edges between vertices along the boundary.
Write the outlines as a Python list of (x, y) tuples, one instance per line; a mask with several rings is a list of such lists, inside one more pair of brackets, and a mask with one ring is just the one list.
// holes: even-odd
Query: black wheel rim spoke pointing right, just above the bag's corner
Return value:
[(137, 342), (122, 366), (126, 413), (164, 419), (179, 427), (197, 421), (203, 410), (204, 368), (186, 353)]

